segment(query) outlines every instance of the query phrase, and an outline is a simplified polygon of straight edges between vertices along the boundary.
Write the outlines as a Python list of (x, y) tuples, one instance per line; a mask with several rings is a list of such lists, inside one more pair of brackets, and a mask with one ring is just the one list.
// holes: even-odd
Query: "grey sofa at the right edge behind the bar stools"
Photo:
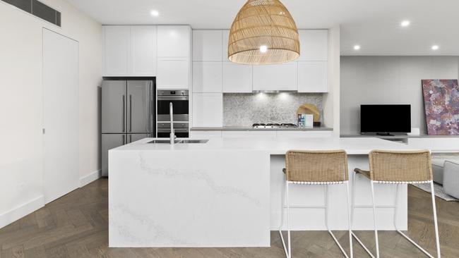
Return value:
[(447, 195), (459, 199), (459, 159), (432, 159), (434, 182), (443, 185)]

